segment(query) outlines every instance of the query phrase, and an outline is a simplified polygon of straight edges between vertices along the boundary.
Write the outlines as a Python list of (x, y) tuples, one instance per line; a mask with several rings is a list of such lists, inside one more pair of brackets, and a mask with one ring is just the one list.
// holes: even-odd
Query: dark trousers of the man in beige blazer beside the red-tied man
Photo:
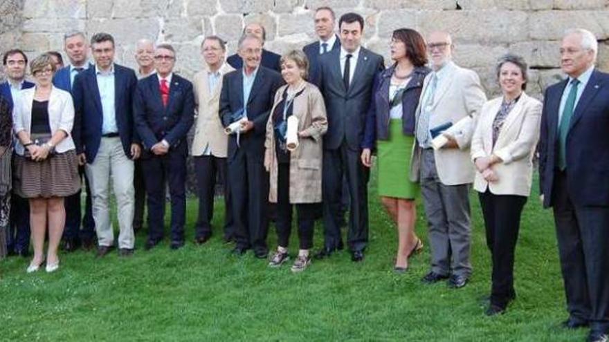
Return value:
[(199, 197), (199, 215), (194, 226), (197, 238), (212, 234), (212, 218), (214, 215), (214, 194), (216, 179), (224, 187), (224, 238), (233, 238), (233, 211), (230, 207), (230, 189), (226, 174), (226, 158), (217, 158), (213, 155), (194, 157), (194, 173), (197, 177), (197, 195)]

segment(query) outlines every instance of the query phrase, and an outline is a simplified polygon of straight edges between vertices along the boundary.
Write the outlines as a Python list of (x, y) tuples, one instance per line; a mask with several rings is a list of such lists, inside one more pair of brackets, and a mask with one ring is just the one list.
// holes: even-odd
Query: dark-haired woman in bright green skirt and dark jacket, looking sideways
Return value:
[(426, 46), (419, 32), (410, 28), (393, 31), (390, 43), (394, 64), (374, 81), (372, 105), (366, 118), (362, 163), (372, 166), (376, 147), (379, 163), (379, 195), (397, 224), (398, 249), (394, 270), (406, 272), (408, 257), (423, 248), (415, 235), (417, 184), (410, 182), (410, 151), (415, 141), (415, 111), (430, 72)]

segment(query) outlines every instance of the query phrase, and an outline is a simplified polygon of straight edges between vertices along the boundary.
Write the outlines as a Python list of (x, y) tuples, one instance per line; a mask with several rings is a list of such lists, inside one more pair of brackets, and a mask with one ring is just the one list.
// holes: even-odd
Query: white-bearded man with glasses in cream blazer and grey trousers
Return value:
[[(410, 179), (421, 183), (431, 247), (431, 271), (424, 283), (448, 278), (448, 286), (464, 287), (471, 276), (469, 187), (474, 167), (469, 146), (476, 118), (486, 102), (480, 78), (473, 70), (451, 61), (453, 41), (446, 32), (428, 37), (428, 52), (433, 72), (425, 78), (416, 112), (415, 148), (410, 164)], [(433, 132), (442, 126), (458, 125), (441, 149), (434, 150)]]

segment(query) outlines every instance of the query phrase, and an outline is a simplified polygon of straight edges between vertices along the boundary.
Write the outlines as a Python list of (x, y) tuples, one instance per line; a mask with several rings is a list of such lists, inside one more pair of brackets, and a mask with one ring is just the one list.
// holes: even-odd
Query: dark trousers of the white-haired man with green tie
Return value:
[(567, 310), (594, 331), (609, 331), (609, 207), (572, 202), (567, 175), (556, 171), (552, 194)]

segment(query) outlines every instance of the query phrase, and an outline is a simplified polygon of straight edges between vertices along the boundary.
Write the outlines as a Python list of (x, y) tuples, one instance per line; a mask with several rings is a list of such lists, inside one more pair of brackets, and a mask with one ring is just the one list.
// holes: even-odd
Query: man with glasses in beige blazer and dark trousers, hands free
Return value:
[(216, 177), (224, 185), (224, 241), (235, 238), (233, 213), (230, 209), (230, 191), (226, 177), (226, 155), (228, 136), (220, 121), (220, 90), (222, 78), (235, 70), (224, 63), (226, 44), (217, 36), (209, 36), (201, 43), (201, 55), (205, 67), (194, 75), (194, 100), (197, 103), (197, 122), (195, 123), (192, 149), (194, 172), (197, 176), (199, 196), (199, 216), (194, 227), (195, 243), (206, 243), (212, 235), (211, 220), (214, 212), (214, 192)]

